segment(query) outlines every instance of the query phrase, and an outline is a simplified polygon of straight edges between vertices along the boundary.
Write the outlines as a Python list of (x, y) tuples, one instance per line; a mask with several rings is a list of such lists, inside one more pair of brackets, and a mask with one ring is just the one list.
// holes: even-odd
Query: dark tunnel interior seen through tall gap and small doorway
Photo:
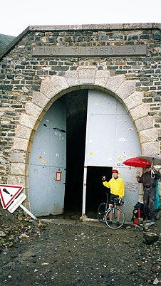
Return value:
[[(70, 92), (66, 97), (67, 139), (66, 139), (66, 189), (64, 213), (81, 213), (83, 204), (83, 171), (85, 159), (85, 133), (88, 106), (88, 90)], [(85, 214), (92, 218), (99, 204), (105, 201), (109, 189), (102, 184), (102, 176), (111, 178), (111, 168), (105, 166), (87, 167)]]

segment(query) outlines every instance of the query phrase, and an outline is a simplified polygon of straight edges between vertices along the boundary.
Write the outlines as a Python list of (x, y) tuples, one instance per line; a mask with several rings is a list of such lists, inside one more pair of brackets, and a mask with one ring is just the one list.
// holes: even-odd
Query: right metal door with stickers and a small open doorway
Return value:
[[(128, 157), (140, 154), (140, 144), (132, 120), (121, 103), (112, 95), (98, 90), (88, 92), (85, 166), (112, 166), (125, 182), (126, 217), (132, 217), (138, 199), (136, 169), (123, 166)], [(101, 179), (101, 178), (100, 178)], [(83, 213), (85, 213), (84, 171)], [(99, 191), (99, 190), (98, 190)]]

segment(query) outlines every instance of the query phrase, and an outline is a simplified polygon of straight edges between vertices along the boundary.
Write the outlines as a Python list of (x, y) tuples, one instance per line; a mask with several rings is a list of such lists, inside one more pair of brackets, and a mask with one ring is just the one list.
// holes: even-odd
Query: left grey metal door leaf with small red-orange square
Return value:
[(36, 131), (29, 164), (31, 211), (63, 213), (66, 169), (66, 105), (57, 100)]

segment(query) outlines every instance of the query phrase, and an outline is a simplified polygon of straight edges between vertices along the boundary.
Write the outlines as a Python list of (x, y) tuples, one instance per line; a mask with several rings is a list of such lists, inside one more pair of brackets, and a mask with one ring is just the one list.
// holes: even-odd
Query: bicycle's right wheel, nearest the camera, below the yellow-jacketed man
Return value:
[[(112, 221), (109, 218), (112, 217)], [(125, 223), (125, 213), (120, 208), (110, 208), (105, 214), (105, 223), (109, 228), (118, 229)]]

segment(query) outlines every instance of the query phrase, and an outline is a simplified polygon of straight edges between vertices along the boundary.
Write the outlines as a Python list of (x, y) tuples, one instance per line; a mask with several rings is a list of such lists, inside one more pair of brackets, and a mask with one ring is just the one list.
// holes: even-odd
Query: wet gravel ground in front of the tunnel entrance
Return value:
[[(161, 285), (161, 238), (147, 245), (145, 231), (78, 216), (41, 218), (38, 226), (7, 216), (0, 216), (1, 233), (8, 230), (0, 235), (1, 286)], [(160, 220), (150, 232), (160, 236)]]

